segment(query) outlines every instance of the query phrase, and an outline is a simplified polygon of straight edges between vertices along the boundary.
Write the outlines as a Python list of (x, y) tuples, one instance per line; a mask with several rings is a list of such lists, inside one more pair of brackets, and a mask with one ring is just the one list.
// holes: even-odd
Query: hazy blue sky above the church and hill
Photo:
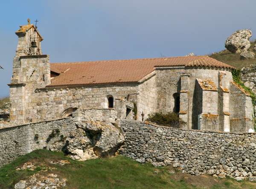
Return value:
[(255, 7), (255, 0), (1, 1), (0, 97), (9, 95), (15, 31), (27, 18), (39, 20), (51, 62), (96, 61), (222, 50), (234, 31), (256, 32)]

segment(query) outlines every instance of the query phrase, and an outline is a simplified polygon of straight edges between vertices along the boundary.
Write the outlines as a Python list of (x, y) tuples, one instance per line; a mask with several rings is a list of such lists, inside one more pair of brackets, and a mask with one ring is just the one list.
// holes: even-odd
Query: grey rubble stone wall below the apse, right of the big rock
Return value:
[(256, 134), (189, 131), (122, 120), (120, 153), (140, 163), (179, 167), (192, 175), (256, 176)]

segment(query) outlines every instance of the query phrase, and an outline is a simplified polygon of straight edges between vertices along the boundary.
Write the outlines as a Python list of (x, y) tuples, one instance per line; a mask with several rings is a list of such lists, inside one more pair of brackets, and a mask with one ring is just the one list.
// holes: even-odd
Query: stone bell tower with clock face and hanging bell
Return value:
[(20, 26), (15, 34), (18, 44), (13, 59), (10, 87), (10, 121), (25, 123), (28, 114), (27, 103), (36, 88), (50, 84), (49, 55), (42, 55), (42, 36), (37, 26), (27, 20), (27, 25)]

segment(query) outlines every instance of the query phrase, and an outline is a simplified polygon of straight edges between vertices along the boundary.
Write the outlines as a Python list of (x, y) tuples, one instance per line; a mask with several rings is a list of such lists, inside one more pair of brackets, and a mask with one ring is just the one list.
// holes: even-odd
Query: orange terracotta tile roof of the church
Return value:
[(175, 66), (234, 68), (208, 56), (52, 63), (51, 71), (60, 75), (49, 86), (137, 82), (155, 67)]

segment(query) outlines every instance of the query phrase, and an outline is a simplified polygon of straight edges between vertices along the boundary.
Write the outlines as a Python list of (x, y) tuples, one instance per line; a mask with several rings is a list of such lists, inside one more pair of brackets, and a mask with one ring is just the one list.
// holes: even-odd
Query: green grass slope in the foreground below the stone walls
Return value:
[[(69, 160), (64, 166), (53, 165), (52, 160)], [(237, 182), (233, 179), (217, 179), (208, 175), (191, 176), (181, 174), (171, 167), (155, 168), (151, 164), (139, 164), (127, 157), (116, 156), (104, 159), (87, 160), (84, 162), (71, 160), (61, 152), (36, 150), (17, 158), (14, 162), (0, 168), (0, 188), (13, 188), (19, 180), (24, 180), (35, 171), (20, 170), (27, 161), (35, 165), (44, 164), (56, 170), (47, 173), (58, 174), (67, 178), (67, 189), (225, 189), (225, 188), (256, 188), (256, 184), (248, 181)], [(175, 171), (170, 174), (169, 171)]]

